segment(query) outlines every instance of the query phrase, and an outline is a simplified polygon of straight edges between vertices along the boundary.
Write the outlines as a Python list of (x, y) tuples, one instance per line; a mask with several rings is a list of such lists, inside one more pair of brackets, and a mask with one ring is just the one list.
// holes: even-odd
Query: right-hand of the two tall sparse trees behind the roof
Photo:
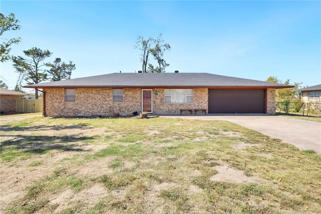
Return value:
[(156, 40), (153, 40), (155, 47), (150, 49), (152, 56), (158, 64), (157, 67), (154, 67), (152, 64), (148, 63), (148, 70), (152, 73), (165, 73), (165, 68), (169, 66), (164, 59), (164, 53), (165, 51), (170, 50), (170, 46), (169, 44), (164, 43), (161, 36), (162, 34), (160, 34)]

